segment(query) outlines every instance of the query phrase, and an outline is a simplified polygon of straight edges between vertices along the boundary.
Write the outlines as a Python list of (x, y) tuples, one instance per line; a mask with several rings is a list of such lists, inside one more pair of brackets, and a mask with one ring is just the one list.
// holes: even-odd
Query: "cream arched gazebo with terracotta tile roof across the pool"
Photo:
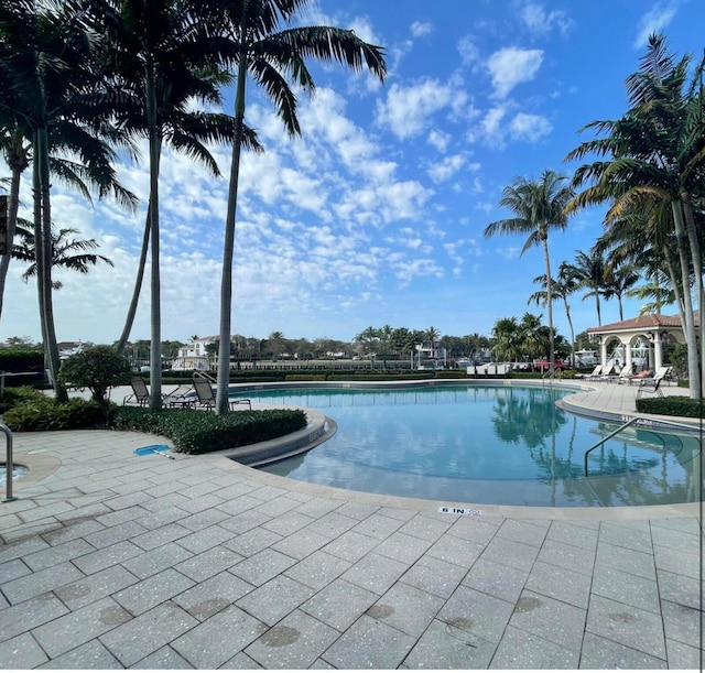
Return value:
[[(697, 325), (698, 317), (695, 316)], [(622, 347), (625, 354), (623, 365), (631, 367), (631, 347), (640, 337), (649, 345), (649, 367), (657, 369), (663, 367), (663, 344), (666, 340), (676, 344), (685, 344), (685, 335), (679, 315), (640, 315), (628, 321), (590, 327), (587, 334), (592, 339), (599, 341), (600, 362), (607, 362), (607, 347), (615, 340)]]

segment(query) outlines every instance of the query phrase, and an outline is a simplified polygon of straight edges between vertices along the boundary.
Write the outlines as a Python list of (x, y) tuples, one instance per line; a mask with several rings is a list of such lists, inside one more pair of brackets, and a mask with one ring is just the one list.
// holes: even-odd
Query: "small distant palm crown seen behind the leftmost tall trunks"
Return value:
[[(80, 234), (78, 229), (59, 229), (52, 231), (52, 265), (77, 273), (88, 273), (90, 267), (95, 267), (99, 261), (106, 262), (112, 267), (112, 261), (102, 254), (88, 252), (96, 250), (99, 246), (93, 238), (88, 240), (69, 239), (74, 234)], [(22, 280), (26, 283), (31, 278), (36, 275), (36, 246), (34, 234), (30, 229), (18, 226), (18, 236), (20, 243), (15, 243), (12, 249), (12, 257), (23, 262), (30, 262), (30, 265), (22, 274)], [(54, 290), (61, 290), (62, 283), (52, 281)]]

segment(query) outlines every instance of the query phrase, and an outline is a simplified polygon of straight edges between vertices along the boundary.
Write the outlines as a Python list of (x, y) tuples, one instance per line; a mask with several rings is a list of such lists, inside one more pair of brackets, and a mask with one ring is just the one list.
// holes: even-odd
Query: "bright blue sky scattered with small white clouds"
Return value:
[[(351, 28), (387, 50), (380, 85), (367, 74), (313, 65), (316, 95), (300, 97), (302, 138), (290, 139), (253, 86), (246, 115), (265, 148), (246, 155), (236, 232), (232, 333), (351, 340), (368, 326), (489, 335), (497, 319), (543, 313), (528, 305), (543, 273), (523, 238), (486, 239), (485, 227), (518, 176), (570, 175), (578, 129), (626, 111), (623, 80), (648, 35), (664, 32), (679, 55), (705, 43), (701, 0), (318, 0), (310, 24)], [(231, 95), (225, 109), (231, 112)], [(215, 148), (220, 169), (229, 150)], [(147, 152), (144, 152), (147, 158)], [(7, 175), (0, 166), (0, 175)], [(124, 163), (142, 203), (148, 169)], [(113, 204), (94, 206), (56, 186), (54, 220), (95, 238), (115, 268), (56, 274), (59, 340), (112, 343), (127, 312), (144, 222)], [(23, 203), (31, 203), (24, 185)], [(165, 152), (161, 176), (162, 336), (218, 332), (227, 180)], [(28, 213), (25, 211), (25, 215)], [(576, 215), (550, 240), (553, 268), (588, 250), (603, 210)], [(0, 340), (40, 338), (34, 285), (13, 262)], [(571, 298), (576, 332), (597, 324), (594, 302)], [(639, 305), (627, 304), (626, 317)], [(675, 313), (669, 311), (668, 313)], [(616, 301), (603, 323), (617, 321)], [(555, 305), (558, 330), (568, 335)], [(149, 338), (143, 287), (132, 339)]]

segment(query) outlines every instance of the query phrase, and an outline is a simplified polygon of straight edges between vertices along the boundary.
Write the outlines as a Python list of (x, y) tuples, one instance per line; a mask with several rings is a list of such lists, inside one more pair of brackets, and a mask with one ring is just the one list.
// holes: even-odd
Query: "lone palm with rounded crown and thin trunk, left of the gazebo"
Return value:
[(554, 171), (545, 170), (540, 180), (519, 177), (514, 184), (505, 187), (500, 207), (512, 210), (516, 217), (491, 222), (485, 228), (485, 236), (529, 235), (521, 254), (533, 246), (543, 247), (546, 275), (546, 310), (549, 314), (549, 371), (553, 375), (555, 354), (553, 336), (553, 298), (551, 286), (551, 261), (549, 257), (549, 231), (563, 230), (567, 226), (566, 204), (573, 198), (573, 189), (567, 177)]

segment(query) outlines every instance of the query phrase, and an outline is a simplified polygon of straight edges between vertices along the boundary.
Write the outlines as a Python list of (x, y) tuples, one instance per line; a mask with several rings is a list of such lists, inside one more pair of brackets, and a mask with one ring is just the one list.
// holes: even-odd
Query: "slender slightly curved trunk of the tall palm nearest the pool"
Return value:
[[(247, 1), (242, 3), (242, 26), (246, 25)], [(228, 185), (228, 209), (223, 243), (223, 272), (220, 279), (220, 343), (218, 344), (218, 378), (216, 413), (228, 413), (230, 384), (230, 313), (232, 311), (232, 259), (235, 257), (235, 228), (238, 205), (238, 183), (240, 177), (240, 154), (242, 129), (245, 126), (245, 94), (247, 82), (247, 34), (240, 35), (240, 57), (238, 63), (238, 85), (235, 96), (235, 127), (232, 133), (232, 159), (230, 183)]]

